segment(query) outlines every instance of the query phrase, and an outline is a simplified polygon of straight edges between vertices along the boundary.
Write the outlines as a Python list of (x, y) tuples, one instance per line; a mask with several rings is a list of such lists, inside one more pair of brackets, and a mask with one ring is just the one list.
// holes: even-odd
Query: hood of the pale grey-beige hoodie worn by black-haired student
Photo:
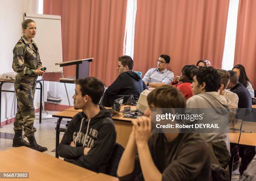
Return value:
[(200, 93), (198, 96), (204, 98), (210, 106), (216, 111), (216, 113), (224, 115), (229, 112), (230, 100), (221, 96), (218, 92), (206, 92)]

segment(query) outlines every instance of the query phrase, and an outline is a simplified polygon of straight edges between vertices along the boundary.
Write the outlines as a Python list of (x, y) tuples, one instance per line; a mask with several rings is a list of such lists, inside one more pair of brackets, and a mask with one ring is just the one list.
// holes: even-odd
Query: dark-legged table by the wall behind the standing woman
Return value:
[[(42, 95), (43, 95), (43, 85), (41, 81), (44, 81), (44, 79), (36, 80), (36, 83), (39, 83), (40, 88), (40, 106), (39, 106), (39, 123), (42, 122)], [(2, 90), (2, 86), (4, 83), (14, 83), (14, 80), (0, 80), (0, 107), (1, 107), (1, 101), (2, 101), (2, 92), (11, 92), (15, 93), (15, 91), (9, 91), (9, 90)], [(15, 96), (16, 97), (16, 96)], [(1, 119), (1, 109), (0, 109), (0, 119)], [(1, 120), (0, 120), (0, 127), (1, 127)]]

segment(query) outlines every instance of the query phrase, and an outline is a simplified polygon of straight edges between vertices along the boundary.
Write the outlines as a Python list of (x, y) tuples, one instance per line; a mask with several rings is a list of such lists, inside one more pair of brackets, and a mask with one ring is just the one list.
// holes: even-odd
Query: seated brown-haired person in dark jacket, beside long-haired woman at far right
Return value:
[(243, 84), (238, 82), (238, 75), (235, 71), (229, 70), (230, 73), (230, 82), (228, 83), (228, 87), (231, 92), (236, 93), (238, 100), (238, 108), (251, 108), (251, 95)]

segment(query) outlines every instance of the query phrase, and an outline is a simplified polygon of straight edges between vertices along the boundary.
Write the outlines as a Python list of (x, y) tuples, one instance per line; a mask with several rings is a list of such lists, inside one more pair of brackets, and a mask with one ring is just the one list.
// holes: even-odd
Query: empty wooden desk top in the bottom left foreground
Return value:
[(0, 162), (1, 172), (28, 172), (33, 181), (79, 181), (97, 174), (25, 146), (0, 151)]

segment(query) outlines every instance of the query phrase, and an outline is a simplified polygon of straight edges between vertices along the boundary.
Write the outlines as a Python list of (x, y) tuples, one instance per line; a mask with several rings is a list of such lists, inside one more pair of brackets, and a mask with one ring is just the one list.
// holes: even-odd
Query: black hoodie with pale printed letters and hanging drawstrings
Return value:
[[(89, 127), (87, 128), (88, 123)], [(79, 131), (80, 127), (81, 131)], [(86, 133), (87, 139), (84, 142)], [(69, 146), (71, 141), (75, 140), (76, 147)], [(95, 172), (105, 173), (115, 141), (115, 126), (108, 112), (101, 110), (90, 122), (86, 115), (81, 112), (77, 113), (70, 121), (59, 144), (58, 153), (65, 161)], [(87, 155), (84, 155), (84, 147), (91, 148)]]

